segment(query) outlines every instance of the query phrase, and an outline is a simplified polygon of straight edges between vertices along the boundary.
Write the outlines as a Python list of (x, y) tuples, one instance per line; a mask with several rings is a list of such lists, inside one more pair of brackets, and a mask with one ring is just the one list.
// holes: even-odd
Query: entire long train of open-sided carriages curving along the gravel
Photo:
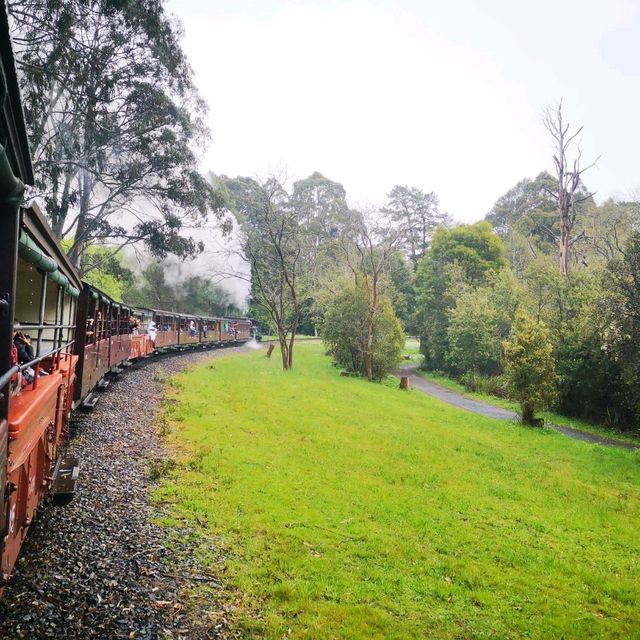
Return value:
[(245, 342), (251, 322), (113, 300), (80, 280), (37, 205), (22, 206), (33, 168), (4, 2), (0, 104), (1, 595), (38, 506), (75, 490), (71, 412), (95, 405), (109, 372), (162, 350)]

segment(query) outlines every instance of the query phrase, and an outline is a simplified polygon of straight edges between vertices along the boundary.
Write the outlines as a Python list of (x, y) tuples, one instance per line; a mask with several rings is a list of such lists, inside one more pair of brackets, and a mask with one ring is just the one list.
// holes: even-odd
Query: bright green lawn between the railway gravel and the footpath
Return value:
[(317, 342), (296, 354), (168, 390), (157, 498), (202, 536), (243, 637), (640, 637), (637, 453), (342, 378)]

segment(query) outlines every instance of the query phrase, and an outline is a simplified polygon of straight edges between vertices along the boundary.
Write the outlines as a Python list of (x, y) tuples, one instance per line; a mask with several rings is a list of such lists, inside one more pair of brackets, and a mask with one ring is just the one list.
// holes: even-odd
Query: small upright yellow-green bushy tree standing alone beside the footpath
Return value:
[(525, 424), (536, 424), (535, 412), (556, 397), (552, 352), (544, 325), (518, 312), (513, 334), (504, 343), (505, 376), (509, 395), (520, 404)]

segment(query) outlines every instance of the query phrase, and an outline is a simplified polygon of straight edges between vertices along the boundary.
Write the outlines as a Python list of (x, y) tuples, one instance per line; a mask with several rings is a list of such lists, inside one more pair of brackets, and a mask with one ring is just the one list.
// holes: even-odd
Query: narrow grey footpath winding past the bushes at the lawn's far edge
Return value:
[[(481, 400), (475, 400), (469, 396), (465, 396), (462, 393), (447, 389), (431, 380), (427, 380), (416, 373), (417, 365), (406, 365), (400, 369), (398, 375), (409, 376), (411, 379), (411, 386), (415, 389), (422, 391), (438, 400), (442, 400), (447, 404), (459, 407), (460, 409), (466, 409), (472, 413), (478, 413), (486, 416), (487, 418), (495, 418), (496, 420), (518, 420), (519, 416), (513, 411), (503, 409), (502, 407), (496, 407), (494, 405), (482, 402)], [(637, 445), (629, 442), (623, 442), (621, 440), (615, 440), (614, 438), (604, 438), (601, 436), (587, 433), (586, 431), (579, 431), (578, 429), (571, 429), (569, 427), (561, 427), (557, 424), (551, 424), (546, 422), (546, 427), (562, 433), (565, 436), (572, 438), (573, 440), (582, 440), (583, 442), (592, 442), (594, 444), (600, 444), (605, 447), (617, 447), (620, 449), (636, 450), (640, 449)]]

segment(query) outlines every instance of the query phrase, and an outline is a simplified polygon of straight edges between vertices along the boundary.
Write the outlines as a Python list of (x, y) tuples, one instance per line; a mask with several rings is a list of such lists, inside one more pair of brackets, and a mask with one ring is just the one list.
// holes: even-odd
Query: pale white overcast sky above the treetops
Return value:
[(210, 106), (203, 170), (313, 171), (352, 203), (395, 184), (480, 219), (584, 125), (597, 198), (640, 187), (640, 0), (169, 0)]

